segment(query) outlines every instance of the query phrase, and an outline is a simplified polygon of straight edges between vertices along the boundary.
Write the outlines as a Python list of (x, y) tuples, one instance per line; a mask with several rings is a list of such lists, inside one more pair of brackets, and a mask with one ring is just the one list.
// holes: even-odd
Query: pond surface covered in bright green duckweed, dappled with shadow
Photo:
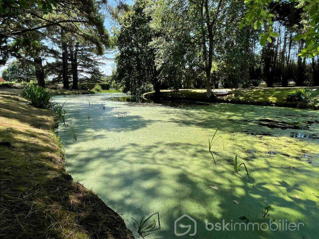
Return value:
[[(318, 111), (153, 103), (122, 94), (55, 101), (68, 109), (68, 126), (59, 126), (67, 170), (122, 214), (135, 235), (131, 217), (159, 212), (160, 229), (147, 238), (317, 238)], [(218, 127), (215, 165), (208, 138)], [(250, 181), (244, 167), (234, 173), (235, 155)], [(194, 224), (185, 216), (174, 232), (184, 214), (197, 225), (181, 235)], [(264, 224), (245, 230), (250, 222)]]

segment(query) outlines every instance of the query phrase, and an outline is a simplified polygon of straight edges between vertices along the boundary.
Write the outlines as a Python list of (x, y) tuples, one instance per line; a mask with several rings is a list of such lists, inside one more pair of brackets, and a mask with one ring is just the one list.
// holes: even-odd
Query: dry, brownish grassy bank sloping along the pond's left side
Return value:
[(134, 238), (64, 169), (53, 112), (0, 92), (0, 237)]

